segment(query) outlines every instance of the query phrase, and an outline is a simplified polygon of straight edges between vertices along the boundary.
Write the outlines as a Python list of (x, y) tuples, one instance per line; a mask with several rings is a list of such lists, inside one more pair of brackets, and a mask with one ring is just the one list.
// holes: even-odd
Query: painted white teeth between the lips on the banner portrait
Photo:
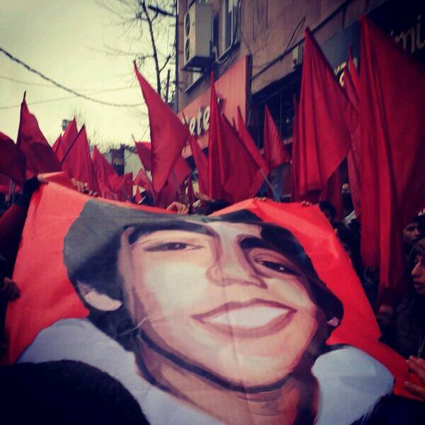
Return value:
[(236, 310), (229, 310), (206, 317), (205, 322), (211, 324), (224, 324), (231, 327), (255, 328), (261, 327), (282, 314), (288, 314), (285, 307), (268, 307), (265, 305), (256, 307), (243, 307)]

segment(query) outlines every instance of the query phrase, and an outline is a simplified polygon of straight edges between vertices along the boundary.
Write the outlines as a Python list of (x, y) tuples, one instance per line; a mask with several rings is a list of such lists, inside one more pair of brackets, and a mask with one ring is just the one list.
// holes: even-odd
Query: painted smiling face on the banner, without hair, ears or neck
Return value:
[(203, 227), (158, 230), (131, 245), (123, 237), (128, 310), (157, 346), (191, 365), (237, 385), (270, 385), (300, 363), (324, 315), (302, 271), (266, 247), (259, 226)]

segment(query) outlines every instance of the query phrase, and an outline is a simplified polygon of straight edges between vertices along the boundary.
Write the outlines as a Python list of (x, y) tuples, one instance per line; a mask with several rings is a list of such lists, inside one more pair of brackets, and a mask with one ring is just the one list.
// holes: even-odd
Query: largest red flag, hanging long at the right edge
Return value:
[(424, 208), (425, 72), (368, 18), (360, 22), (361, 254), (380, 268), (379, 304), (403, 292), (402, 227)]

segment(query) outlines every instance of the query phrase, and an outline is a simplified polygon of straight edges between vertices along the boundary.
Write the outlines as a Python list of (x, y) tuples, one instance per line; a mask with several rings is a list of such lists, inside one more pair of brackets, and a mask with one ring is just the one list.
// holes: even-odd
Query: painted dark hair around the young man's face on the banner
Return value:
[[(190, 220), (190, 221), (189, 221)], [(302, 271), (309, 282), (306, 288), (312, 300), (324, 312), (327, 320), (334, 317), (341, 320), (343, 306), (317, 276), (310, 258), (305, 254), (300, 243), (288, 229), (263, 222), (252, 212), (241, 210), (230, 214), (203, 217), (192, 215), (159, 214), (136, 208), (120, 208), (97, 200), (89, 200), (81, 214), (74, 221), (64, 239), (64, 264), (68, 276), (79, 293), (77, 283), (85, 283), (98, 293), (108, 295), (115, 300), (123, 300), (123, 280), (118, 270), (118, 252), (120, 237), (129, 227), (134, 231), (129, 242), (134, 242), (140, 234), (151, 233), (159, 229), (193, 229), (202, 231), (202, 224), (209, 222), (244, 222), (261, 227), (261, 237), (270, 249), (288, 256)], [(113, 312), (101, 312), (88, 305), (89, 319), (109, 336), (131, 349), (134, 335), (128, 329), (134, 329), (130, 314), (125, 307)], [(326, 336), (331, 334), (334, 326), (329, 326)]]

